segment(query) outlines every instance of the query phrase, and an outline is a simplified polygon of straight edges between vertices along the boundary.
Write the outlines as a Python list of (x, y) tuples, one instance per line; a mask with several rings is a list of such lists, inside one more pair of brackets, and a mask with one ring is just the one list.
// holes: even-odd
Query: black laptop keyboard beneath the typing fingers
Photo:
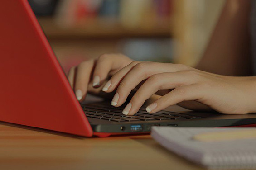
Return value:
[(98, 118), (114, 122), (135, 122), (135, 121), (153, 121), (153, 120), (177, 120), (177, 119), (198, 119), (201, 117), (191, 116), (183, 113), (170, 111), (159, 111), (157, 113), (148, 113), (146, 109), (140, 109), (133, 116), (127, 116), (122, 113), (123, 107), (114, 107), (105, 103), (82, 104), (82, 109), (87, 118)]

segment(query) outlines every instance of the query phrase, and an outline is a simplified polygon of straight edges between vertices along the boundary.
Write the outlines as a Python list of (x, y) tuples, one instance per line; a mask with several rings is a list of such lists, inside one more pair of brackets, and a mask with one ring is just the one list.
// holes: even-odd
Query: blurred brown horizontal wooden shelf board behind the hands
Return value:
[(73, 27), (63, 27), (51, 17), (39, 17), (39, 23), (49, 39), (170, 38), (173, 28), (170, 18), (141, 22), (136, 28), (126, 28), (113, 18), (87, 18), (83, 24)]

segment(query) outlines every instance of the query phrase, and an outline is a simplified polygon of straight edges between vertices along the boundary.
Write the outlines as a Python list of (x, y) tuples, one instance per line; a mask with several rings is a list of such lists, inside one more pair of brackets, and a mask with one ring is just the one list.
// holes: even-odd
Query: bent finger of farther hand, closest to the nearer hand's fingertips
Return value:
[[(95, 69), (93, 71), (93, 87), (101, 86), (102, 83), (106, 80), (109, 72), (119, 70), (123, 67), (123, 60), (125, 56), (120, 55), (121, 54), (103, 54), (97, 59)], [(129, 58), (127, 57), (127, 59)]]

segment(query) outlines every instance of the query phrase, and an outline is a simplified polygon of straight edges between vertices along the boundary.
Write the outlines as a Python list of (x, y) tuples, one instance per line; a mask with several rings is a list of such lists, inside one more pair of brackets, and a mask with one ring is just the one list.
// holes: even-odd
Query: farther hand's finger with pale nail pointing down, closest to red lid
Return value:
[(75, 80), (75, 94), (78, 101), (83, 101), (87, 94), (88, 84), (94, 67), (94, 60), (82, 62), (77, 66), (77, 75)]

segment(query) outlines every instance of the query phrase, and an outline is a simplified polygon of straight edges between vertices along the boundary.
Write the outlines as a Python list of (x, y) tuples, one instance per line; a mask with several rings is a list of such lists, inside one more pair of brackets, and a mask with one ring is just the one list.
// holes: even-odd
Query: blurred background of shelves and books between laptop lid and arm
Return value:
[(104, 53), (194, 66), (225, 0), (29, 0), (67, 72)]

